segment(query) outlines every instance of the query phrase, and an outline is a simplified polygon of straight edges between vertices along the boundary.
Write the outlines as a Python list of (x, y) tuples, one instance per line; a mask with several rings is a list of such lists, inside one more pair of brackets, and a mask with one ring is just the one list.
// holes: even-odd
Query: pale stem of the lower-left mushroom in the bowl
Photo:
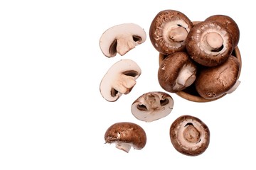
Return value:
[(177, 82), (183, 86), (190, 86), (196, 80), (196, 75), (192, 72), (192, 67), (183, 67), (178, 74)]

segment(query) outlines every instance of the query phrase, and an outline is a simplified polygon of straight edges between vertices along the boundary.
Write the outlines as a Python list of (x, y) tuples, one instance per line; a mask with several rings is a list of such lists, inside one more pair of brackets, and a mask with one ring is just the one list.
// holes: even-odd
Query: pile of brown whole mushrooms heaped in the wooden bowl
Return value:
[(213, 101), (240, 84), (241, 61), (235, 53), (240, 30), (230, 16), (191, 22), (180, 11), (164, 10), (151, 22), (149, 36), (160, 53), (158, 79), (165, 91)]

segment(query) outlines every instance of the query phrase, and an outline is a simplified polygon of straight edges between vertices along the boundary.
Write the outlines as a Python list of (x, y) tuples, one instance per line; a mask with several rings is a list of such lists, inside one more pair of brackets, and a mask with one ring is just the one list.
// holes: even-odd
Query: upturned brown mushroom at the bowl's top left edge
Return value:
[(192, 27), (193, 23), (184, 13), (160, 11), (151, 22), (149, 38), (157, 51), (169, 55), (185, 50), (185, 40)]

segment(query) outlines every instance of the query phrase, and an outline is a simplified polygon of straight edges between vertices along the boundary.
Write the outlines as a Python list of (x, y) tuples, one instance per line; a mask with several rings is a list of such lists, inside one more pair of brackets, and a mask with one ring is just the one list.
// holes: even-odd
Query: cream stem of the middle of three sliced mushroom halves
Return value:
[(135, 84), (136, 80), (134, 77), (122, 74), (115, 84), (113, 84), (113, 88), (121, 94), (129, 94)]

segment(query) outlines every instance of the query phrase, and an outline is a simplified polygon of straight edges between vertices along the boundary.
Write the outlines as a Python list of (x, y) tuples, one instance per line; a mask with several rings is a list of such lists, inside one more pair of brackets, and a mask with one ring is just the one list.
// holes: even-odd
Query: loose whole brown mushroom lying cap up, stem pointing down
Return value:
[(131, 147), (142, 149), (146, 145), (146, 132), (135, 123), (114, 123), (105, 132), (105, 142), (115, 143), (117, 149), (129, 152)]

